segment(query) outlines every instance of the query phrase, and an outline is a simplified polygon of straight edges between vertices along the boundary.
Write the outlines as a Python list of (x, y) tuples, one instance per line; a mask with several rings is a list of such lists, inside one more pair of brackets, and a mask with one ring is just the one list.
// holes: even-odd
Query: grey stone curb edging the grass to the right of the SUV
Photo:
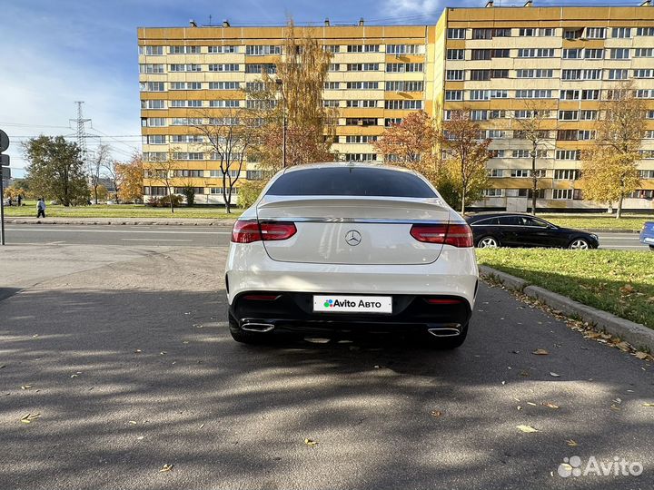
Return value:
[(548, 289), (532, 286), (528, 281), (511, 276), (506, 272), (494, 270), (487, 266), (480, 266), (479, 270), (482, 276), (497, 279), (503, 286), (520, 291), (530, 298), (538, 299), (550, 308), (557, 309), (568, 317), (579, 317), (595, 328), (605, 330), (609, 334), (626, 340), (634, 348), (639, 350), (649, 348), (649, 352), (654, 352), (654, 330), (651, 328), (629, 321), (628, 319), (620, 319), (608, 311), (581, 304), (574, 299), (562, 296)]

